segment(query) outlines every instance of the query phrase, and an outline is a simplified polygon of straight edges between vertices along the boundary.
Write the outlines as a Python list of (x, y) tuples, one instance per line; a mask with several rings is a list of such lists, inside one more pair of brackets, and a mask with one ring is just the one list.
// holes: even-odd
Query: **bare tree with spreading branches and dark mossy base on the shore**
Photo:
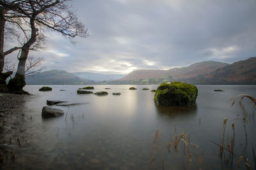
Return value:
[[(87, 29), (83, 23), (79, 22), (68, 0), (23, 0), (19, 1), (15, 7), (6, 4), (8, 1), (1, 3), (3, 1), (0, 1), (0, 5), (13, 11), (6, 17), (7, 20), (17, 24), (25, 35), (17, 73), (8, 83), (11, 92), (20, 92), (26, 85), (25, 65), (28, 53), (37, 38), (44, 37), (45, 31), (56, 31), (74, 42), (73, 38), (77, 36), (85, 38)], [(22, 24), (20, 24), (20, 20), (17, 21), (17, 18), (22, 18)], [(27, 34), (28, 28), (30, 34)]]

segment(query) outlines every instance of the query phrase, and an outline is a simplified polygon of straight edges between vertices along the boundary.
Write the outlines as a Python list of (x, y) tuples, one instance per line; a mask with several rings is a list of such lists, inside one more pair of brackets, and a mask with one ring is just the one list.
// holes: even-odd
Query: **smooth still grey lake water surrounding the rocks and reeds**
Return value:
[[(28, 85), (24, 89), (33, 94), (24, 104), (26, 117), (32, 119), (24, 123), (26, 135), (21, 138), (22, 146), (15, 149), (15, 162), (2, 165), (6, 169), (189, 169), (184, 143), (180, 142), (177, 150), (170, 146), (170, 152), (166, 147), (172, 142), (175, 127), (177, 134), (186, 130), (189, 141), (200, 147), (190, 146), (194, 154), (191, 169), (200, 169), (197, 157), (202, 160), (203, 169), (239, 169), (241, 155), (254, 167), (254, 118), (246, 122), (246, 145), (241, 110), (228, 102), (237, 94), (256, 97), (254, 85), (197, 85), (196, 106), (189, 108), (156, 106), (150, 90), (157, 85), (93, 85), (91, 91), (104, 90), (108, 96), (77, 94), (76, 90), (84, 85), (51, 85), (51, 92), (38, 92), (40, 87)], [(138, 90), (128, 90), (129, 87)], [(150, 90), (141, 90), (143, 87)], [(121, 95), (113, 96), (112, 92)], [(53, 106), (65, 111), (65, 115), (42, 119), (46, 100), (86, 104)], [(251, 113), (252, 104), (248, 100), (244, 103)], [(233, 136), (231, 124), (235, 124), (233, 160), (228, 152), (225, 159), (221, 158), (220, 147), (209, 141), (221, 144), (223, 118), (228, 120), (225, 143)], [(159, 138), (153, 151), (157, 129)], [(241, 168), (246, 168), (243, 161)]]

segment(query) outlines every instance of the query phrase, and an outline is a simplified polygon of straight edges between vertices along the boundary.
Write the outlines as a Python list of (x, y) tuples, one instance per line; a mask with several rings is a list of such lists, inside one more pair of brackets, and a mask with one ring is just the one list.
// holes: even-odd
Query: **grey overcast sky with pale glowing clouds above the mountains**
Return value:
[(255, 0), (74, 0), (90, 36), (51, 34), (48, 69), (127, 74), (256, 56)]

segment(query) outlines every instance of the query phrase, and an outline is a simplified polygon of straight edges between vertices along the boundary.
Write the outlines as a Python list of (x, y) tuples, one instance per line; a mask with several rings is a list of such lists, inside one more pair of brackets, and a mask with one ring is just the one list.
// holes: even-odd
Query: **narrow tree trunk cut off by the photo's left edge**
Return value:
[(6, 13), (6, 9), (1, 6), (0, 8), (0, 73), (3, 72), (4, 69), (4, 26), (5, 26), (5, 18), (4, 13)]

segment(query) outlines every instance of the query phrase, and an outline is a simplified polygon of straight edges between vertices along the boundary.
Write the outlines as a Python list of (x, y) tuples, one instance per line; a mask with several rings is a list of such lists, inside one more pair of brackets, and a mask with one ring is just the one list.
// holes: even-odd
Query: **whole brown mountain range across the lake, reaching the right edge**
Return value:
[(193, 84), (256, 84), (256, 57), (227, 64), (196, 62), (188, 67), (169, 70), (136, 70), (112, 84), (152, 84), (184, 81)]

